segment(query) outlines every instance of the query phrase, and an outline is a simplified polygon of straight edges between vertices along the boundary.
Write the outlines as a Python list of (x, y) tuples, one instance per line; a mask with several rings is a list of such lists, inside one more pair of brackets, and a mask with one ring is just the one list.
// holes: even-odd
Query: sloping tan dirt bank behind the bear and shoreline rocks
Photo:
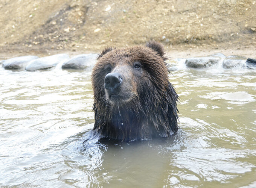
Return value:
[[(0, 52), (98, 52), (107, 45), (256, 47), (255, 0), (2, 0)], [(192, 50), (194, 51), (194, 50)]]

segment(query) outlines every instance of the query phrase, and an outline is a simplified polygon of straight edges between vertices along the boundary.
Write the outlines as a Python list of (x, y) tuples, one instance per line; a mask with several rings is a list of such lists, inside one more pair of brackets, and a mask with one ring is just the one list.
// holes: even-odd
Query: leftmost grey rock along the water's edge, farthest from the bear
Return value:
[(24, 69), (26, 65), (33, 59), (38, 59), (38, 56), (20, 56), (16, 58), (11, 58), (3, 61), (3, 68), (5, 69)]

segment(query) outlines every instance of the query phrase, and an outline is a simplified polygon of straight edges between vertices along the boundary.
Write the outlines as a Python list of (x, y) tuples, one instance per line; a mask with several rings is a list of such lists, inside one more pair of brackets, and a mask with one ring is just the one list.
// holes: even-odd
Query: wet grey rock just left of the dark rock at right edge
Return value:
[(235, 67), (241, 67), (245, 68), (246, 64), (246, 58), (242, 56), (227, 56), (222, 65), (223, 68), (235, 68)]

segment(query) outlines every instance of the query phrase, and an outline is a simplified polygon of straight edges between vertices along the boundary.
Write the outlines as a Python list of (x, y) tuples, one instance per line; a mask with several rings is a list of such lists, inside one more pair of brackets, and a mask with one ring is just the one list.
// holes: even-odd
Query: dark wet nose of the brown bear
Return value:
[(106, 89), (116, 89), (122, 82), (122, 76), (119, 73), (108, 73), (105, 76), (104, 82)]

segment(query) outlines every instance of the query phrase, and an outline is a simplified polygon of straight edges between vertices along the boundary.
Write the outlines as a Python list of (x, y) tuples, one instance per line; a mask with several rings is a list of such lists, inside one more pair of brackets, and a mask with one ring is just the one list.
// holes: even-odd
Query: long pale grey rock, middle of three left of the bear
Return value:
[(26, 66), (27, 71), (36, 71), (43, 70), (55, 67), (60, 62), (67, 61), (69, 59), (69, 55), (62, 53), (53, 56), (47, 56), (44, 58), (34, 59), (29, 62), (29, 65)]

